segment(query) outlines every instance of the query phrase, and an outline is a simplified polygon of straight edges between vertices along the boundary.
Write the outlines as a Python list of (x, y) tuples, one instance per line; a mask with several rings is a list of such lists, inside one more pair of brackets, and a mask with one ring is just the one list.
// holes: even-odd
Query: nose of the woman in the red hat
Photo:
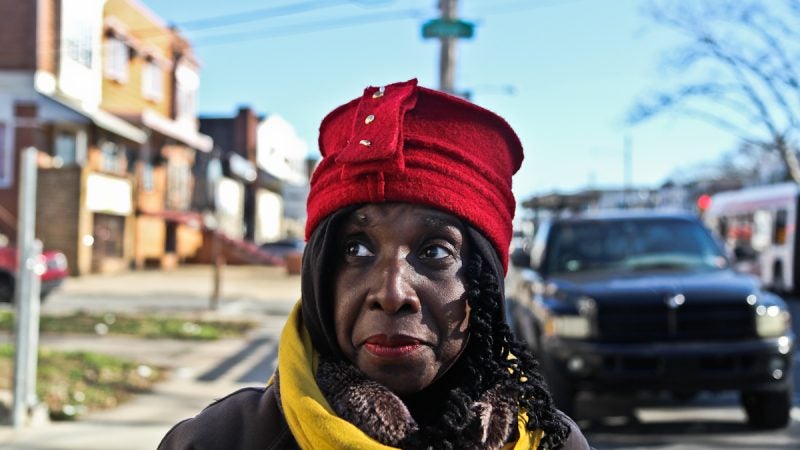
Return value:
[(406, 258), (386, 258), (373, 270), (374, 278), (367, 298), (370, 309), (380, 309), (387, 314), (420, 310), (413, 282), (414, 270)]

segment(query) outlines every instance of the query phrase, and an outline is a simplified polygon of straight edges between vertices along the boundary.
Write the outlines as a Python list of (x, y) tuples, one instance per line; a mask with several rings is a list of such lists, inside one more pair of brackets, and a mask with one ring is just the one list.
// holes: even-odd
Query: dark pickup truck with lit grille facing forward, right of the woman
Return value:
[(786, 304), (734, 271), (693, 215), (543, 221), (512, 251), (506, 296), (514, 333), (565, 412), (579, 391), (736, 390), (753, 427), (789, 423)]

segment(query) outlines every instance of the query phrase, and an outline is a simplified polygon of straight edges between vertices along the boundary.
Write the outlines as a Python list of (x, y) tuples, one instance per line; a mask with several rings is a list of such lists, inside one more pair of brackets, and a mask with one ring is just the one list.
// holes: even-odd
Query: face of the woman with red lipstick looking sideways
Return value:
[(456, 217), (417, 205), (371, 204), (344, 222), (336, 339), (367, 377), (410, 394), (458, 359), (468, 336), (466, 241)]

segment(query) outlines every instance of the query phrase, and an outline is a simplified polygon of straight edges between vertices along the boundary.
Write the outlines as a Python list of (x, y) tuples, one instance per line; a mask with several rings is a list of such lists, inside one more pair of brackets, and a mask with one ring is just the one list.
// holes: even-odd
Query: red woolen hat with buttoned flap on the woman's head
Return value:
[(416, 79), (368, 87), (323, 119), (319, 148), (306, 239), (344, 206), (416, 203), (483, 232), (507, 270), (522, 145), (498, 115)]

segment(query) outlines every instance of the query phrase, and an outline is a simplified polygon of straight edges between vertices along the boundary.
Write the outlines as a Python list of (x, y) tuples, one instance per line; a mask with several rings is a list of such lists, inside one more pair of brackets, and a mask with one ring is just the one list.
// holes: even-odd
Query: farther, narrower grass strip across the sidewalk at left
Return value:
[[(42, 333), (119, 334), (158, 339), (214, 340), (241, 336), (256, 326), (248, 321), (203, 321), (153, 315), (90, 314), (43, 315)], [(0, 331), (13, 331), (14, 313), (0, 311)]]

